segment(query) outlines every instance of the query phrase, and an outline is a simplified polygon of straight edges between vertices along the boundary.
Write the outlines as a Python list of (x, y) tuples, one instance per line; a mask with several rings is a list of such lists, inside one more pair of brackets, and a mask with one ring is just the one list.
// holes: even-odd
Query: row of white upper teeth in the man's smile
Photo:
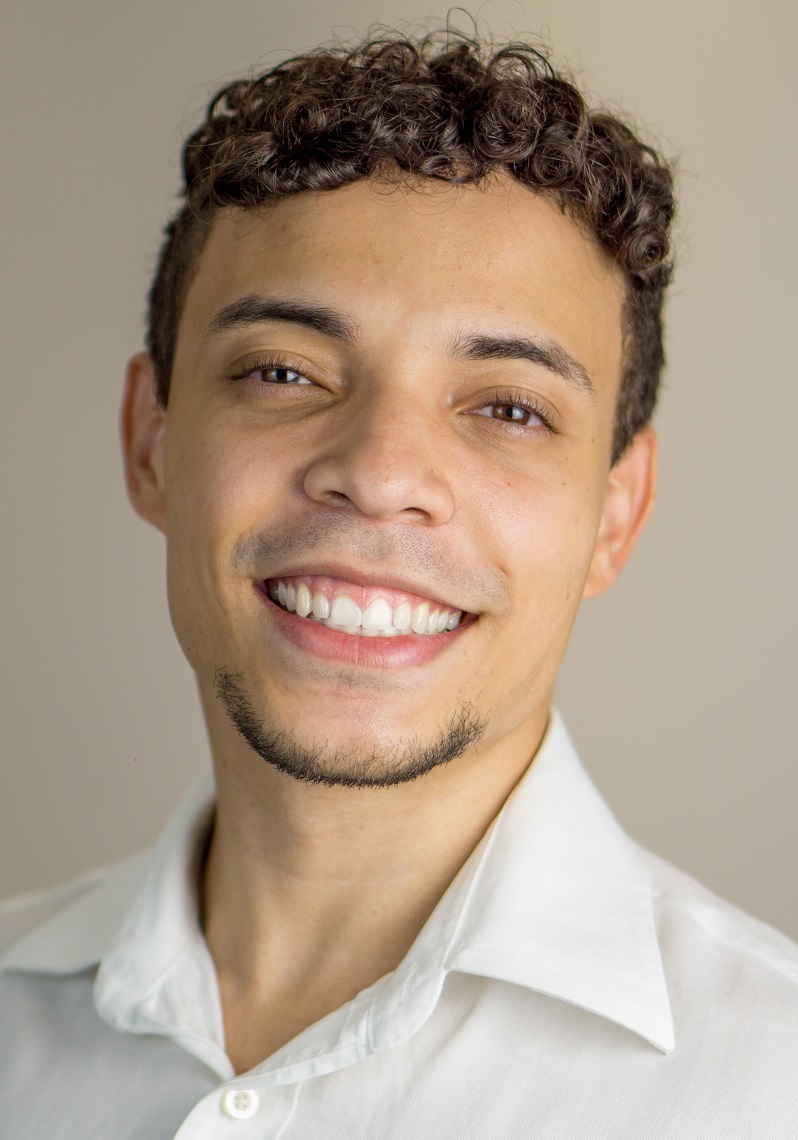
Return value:
[(311, 594), (304, 583), (299, 586), (284, 581), (269, 581), (269, 596), (284, 610), (299, 613), (301, 618), (314, 618), (329, 629), (342, 629), (348, 634), (364, 634), (367, 637), (396, 637), (399, 634), (440, 634), (455, 629), (463, 617), (462, 610), (446, 610), (422, 602), (415, 608), (409, 602), (400, 602), (391, 609), (384, 597), (375, 597), (361, 610), (349, 594), (336, 594), (332, 600), (326, 594)]

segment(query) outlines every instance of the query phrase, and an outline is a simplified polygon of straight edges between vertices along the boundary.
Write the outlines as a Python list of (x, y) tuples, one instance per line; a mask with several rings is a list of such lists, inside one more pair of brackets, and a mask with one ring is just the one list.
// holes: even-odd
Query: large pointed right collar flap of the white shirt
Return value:
[(560, 997), (670, 1051), (649, 870), (556, 714), (486, 838), (447, 967)]

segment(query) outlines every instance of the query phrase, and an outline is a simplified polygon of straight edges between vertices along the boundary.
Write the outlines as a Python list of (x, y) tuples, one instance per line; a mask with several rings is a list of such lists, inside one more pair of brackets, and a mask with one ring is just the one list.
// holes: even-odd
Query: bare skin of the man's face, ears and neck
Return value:
[[(250, 294), (333, 307), (357, 341), (290, 323), (209, 337)], [(220, 211), (168, 409), (149, 358), (129, 366), (128, 488), (166, 536), (172, 620), (217, 772), (203, 923), (237, 1072), (396, 968), (538, 748), (579, 602), (612, 584), (653, 502), (650, 430), (610, 466), (622, 300), (594, 239), (508, 179), (359, 182)], [(545, 337), (593, 392), (528, 360), (455, 359), (464, 331)], [(312, 383), (229, 378), (276, 352)], [(497, 389), (556, 430), (496, 418)], [(254, 588), (298, 559), (398, 578), (477, 620), (413, 667), (318, 656)], [(375, 758), (399, 774), (464, 707), (483, 733), (393, 787), (311, 784), (246, 744), (219, 669), (267, 726), (320, 744), (333, 777)]]

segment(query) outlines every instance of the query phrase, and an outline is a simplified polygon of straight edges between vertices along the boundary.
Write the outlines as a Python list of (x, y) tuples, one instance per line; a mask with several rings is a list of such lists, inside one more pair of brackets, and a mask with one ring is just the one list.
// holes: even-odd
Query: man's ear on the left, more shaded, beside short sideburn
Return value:
[(155, 368), (147, 352), (128, 365), (120, 417), (128, 495), (137, 514), (166, 531), (163, 447), (166, 409), (158, 402)]

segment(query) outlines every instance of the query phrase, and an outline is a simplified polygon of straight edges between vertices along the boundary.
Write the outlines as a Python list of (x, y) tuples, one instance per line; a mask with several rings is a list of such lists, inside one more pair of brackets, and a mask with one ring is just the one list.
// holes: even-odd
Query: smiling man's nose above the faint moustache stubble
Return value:
[(342, 409), (339, 429), (306, 471), (306, 494), (372, 519), (448, 522), (455, 499), (442, 462), (443, 427), (413, 402), (375, 396)]

